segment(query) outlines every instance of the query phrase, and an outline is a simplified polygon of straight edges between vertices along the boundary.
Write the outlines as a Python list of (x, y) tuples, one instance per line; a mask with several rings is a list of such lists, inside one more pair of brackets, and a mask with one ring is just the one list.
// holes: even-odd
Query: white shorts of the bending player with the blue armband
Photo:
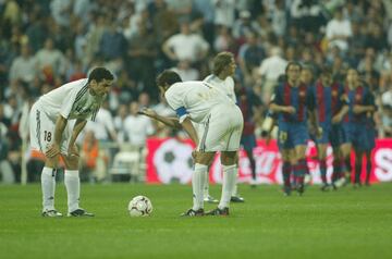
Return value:
[(207, 121), (197, 127), (197, 150), (237, 151), (243, 127), (244, 119), (237, 106), (217, 106), (211, 110)]

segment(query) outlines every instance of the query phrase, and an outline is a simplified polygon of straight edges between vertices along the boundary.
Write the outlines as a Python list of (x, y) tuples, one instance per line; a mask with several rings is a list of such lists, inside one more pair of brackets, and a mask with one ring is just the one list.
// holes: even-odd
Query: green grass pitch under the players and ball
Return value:
[[(231, 215), (180, 218), (191, 207), (181, 185), (83, 185), (95, 218), (40, 217), (40, 186), (0, 186), (1, 258), (392, 258), (392, 184), (283, 197), (278, 186), (240, 186)], [(220, 196), (220, 186), (210, 193)], [(136, 195), (149, 218), (130, 218)], [(57, 185), (57, 209), (66, 194)], [(206, 205), (207, 209), (215, 208)]]

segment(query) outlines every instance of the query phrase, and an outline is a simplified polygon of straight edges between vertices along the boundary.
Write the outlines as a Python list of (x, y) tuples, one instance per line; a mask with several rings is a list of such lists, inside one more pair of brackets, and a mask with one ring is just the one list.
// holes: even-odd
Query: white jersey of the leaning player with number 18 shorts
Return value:
[(106, 96), (89, 94), (87, 78), (74, 81), (49, 91), (38, 99), (40, 110), (53, 121), (61, 114), (68, 120), (95, 120)]

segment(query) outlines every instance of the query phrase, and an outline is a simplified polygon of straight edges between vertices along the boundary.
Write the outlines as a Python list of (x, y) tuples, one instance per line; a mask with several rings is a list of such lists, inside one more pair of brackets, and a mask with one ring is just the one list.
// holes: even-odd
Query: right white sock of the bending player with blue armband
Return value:
[(218, 208), (229, 208), (230, 198), (233, 194), (233, 189), (236, 183), (237, 166), (236, 164), (223, 165), (223, 184), (222, 184), (222, 196)]

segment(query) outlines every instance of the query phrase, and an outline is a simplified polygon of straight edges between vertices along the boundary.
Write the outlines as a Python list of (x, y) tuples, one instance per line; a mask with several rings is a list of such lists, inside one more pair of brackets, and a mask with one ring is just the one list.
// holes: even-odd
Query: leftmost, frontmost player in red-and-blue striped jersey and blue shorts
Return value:
[(286, 66), (286, 82), (275, 88), (270, 110), (278, 113), (278, 145), (283, 159), (283, 192), (291, 194), (291, 168), (293, 166), (296, 189), (304, 193), (304, 175), (308, 171), (305, 151), (308, 136), (307, 110), (309, 110), (313, 131), (320, 135), (317, 125), (315, 98), (311, 88), (301, 83), (302, 66), (297, 62), (290, 62)]

